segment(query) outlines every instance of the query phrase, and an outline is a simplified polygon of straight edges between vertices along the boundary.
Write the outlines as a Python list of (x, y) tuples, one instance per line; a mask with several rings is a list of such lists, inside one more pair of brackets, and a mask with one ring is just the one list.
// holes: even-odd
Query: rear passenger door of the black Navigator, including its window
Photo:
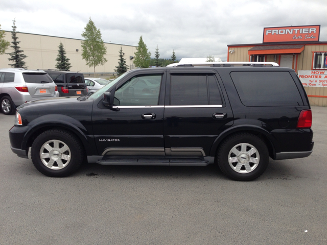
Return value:
[(172, 69), (166, 84), (164, 137), (167, 156), (209, 156), (233, 114), (214, 70)]

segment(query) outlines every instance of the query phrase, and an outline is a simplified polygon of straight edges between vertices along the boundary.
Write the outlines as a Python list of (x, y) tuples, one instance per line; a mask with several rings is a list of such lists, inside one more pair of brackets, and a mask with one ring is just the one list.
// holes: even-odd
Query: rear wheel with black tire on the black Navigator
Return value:
[(269, 152), (265, 142), (250, 133), (226, 138), (217, 151), (221, 171), (230, 179), (251, 181), (260, 177), (268, 167)]

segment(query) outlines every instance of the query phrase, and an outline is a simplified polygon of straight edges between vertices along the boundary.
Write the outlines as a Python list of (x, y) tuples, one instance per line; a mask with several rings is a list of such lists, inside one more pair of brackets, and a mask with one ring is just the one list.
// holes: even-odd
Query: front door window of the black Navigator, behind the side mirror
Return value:
[(161, 75), (133, 77), (114, 93), (116, 106), (158, 105)]

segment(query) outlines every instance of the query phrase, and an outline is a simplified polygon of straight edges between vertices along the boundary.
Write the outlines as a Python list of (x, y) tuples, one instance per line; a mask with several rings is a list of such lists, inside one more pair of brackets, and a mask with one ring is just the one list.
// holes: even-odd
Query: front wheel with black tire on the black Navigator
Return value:
[(72, 175), (81, 166), (84, 155), (80, 140), (61, 129), (43, 132), (34, 140), (31, 149), (34, 166), (50, 177)]

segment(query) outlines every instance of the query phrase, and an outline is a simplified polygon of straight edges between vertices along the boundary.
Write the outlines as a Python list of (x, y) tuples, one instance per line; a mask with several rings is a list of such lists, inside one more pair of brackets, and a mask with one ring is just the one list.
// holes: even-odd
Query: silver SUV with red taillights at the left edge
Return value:
[(43, 70), (0, 69), (0, 110), (14, 114), (27, 101), (59, 97), (57, 86)]

